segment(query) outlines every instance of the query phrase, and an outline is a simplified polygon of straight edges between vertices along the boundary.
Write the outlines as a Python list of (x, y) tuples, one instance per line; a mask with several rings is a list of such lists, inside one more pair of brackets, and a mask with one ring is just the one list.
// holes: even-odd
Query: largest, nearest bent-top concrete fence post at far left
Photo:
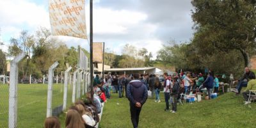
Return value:
[(20, 53), (11, 61), (10, 88), (9, 88), (9, 128), (17, 127), (17, 94), (18, 94), (18, 66), (20, 60), (25, 58), (26, 52)]

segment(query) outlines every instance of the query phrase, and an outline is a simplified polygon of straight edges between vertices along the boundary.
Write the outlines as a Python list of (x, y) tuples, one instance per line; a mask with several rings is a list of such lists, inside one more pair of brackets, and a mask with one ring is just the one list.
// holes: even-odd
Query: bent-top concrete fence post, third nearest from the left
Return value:
[(64, 94), (63, 94), (63, 111), (66, 109), (67, 107), (67, 93), (68, 93), (68, 73), (70, 72), (70, 70), (72, 69), (72, 67), (67, 68), (67, 70), (64, 73)]

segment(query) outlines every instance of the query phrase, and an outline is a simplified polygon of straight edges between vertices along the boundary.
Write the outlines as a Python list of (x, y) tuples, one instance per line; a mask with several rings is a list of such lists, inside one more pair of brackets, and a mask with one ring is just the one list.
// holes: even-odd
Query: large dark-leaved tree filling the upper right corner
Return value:
[(193, 0), (191, 3), (196, 47), (206, 46), (207, 49), (211, 45), (220, 51), (239, 51), (244, 67), (249, 67), (249, 54), (256, 48), (255, 0)]

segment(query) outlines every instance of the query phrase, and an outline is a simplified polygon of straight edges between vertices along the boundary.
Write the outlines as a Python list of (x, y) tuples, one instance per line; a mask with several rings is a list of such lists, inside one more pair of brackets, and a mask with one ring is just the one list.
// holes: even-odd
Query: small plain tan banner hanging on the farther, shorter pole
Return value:
[(93, 62), (102, 63), (103, 62), (103, 44), (93, 43)]

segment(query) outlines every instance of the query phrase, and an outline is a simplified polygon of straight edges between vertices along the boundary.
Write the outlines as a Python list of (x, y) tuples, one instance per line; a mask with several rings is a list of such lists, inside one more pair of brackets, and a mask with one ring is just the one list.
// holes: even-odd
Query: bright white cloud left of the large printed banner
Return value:
[(19, 35), (23, 29), (35, 31), (39, 26), (49, 28), (49, 14), (44, 6), (27, 0), (0, 2), (0, 27), (5, 42), (8, 41), (6, 38)]

